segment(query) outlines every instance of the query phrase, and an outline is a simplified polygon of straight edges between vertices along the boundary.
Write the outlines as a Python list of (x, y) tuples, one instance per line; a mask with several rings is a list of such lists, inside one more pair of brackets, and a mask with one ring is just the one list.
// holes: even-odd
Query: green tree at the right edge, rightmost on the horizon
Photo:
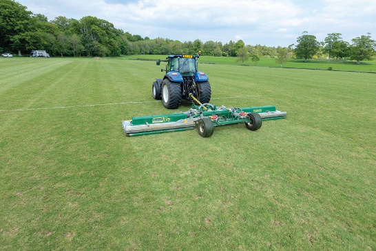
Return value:
[(362, 35), (351, 40), (353, 44), (351, 45), (351, 60), (356, 60), (360, 63), (362, 60), (372, 60), (375, 54), (376, 42), (370, 39), (370, 33), (366, 36)]

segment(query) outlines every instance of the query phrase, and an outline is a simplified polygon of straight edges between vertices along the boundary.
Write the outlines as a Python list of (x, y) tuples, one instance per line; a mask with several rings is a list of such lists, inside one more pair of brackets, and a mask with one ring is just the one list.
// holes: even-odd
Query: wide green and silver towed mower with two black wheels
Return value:
[(192, 130), (197, 127), (201, 137), (211, 137), (214, 127), (219, 125), (245, 123), (249, 130), (258, 130), (262, 121), (286, 117), (286, 112), (276, 110), (275, 106), (226, 108), (211, 103), (200, 103), (193, 94), (189, 94), (189, 97), (194, 102), (187, 112), (133, 117), (131, 121), (123, 121), (125, 134), (140, 136)]

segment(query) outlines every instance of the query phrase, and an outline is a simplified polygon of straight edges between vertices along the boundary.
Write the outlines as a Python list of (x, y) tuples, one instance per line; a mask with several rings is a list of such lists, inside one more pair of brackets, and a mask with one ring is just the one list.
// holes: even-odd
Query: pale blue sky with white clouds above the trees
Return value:
[(376, 40), (376, 0), (15, 0), (49, 21), (92, 16), (141, 37), (289, 46), (306, 31)]

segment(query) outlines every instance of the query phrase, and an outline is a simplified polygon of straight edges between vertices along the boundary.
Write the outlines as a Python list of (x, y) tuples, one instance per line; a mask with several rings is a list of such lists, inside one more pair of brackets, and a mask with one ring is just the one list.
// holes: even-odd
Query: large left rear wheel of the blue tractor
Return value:
[(180, 83), (174, 83), (169, 79), (163, 80), (162, 83), (162, 101), (163, 106), (167, 109), (176, 109), (182, 101), (182, 89)]

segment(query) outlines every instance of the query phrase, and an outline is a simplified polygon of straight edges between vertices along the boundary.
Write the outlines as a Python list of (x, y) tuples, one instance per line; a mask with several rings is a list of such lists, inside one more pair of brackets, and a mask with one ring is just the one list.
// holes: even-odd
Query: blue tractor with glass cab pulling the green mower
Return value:
[(163, 106), (168, 109), (176, 109), (180, 106), (181, 100), (195, 102), (192, 96), (200, 103), (209, 103), (211, 88), (209, 78), (204, 72), (198, 71), (198, 55), (169, 55), (167, 60), (157, 59), (156, 65), (160, 62), (167, 62), (165, 77), (156, 79), (152, 86), (154, 99), (162, 99)]

